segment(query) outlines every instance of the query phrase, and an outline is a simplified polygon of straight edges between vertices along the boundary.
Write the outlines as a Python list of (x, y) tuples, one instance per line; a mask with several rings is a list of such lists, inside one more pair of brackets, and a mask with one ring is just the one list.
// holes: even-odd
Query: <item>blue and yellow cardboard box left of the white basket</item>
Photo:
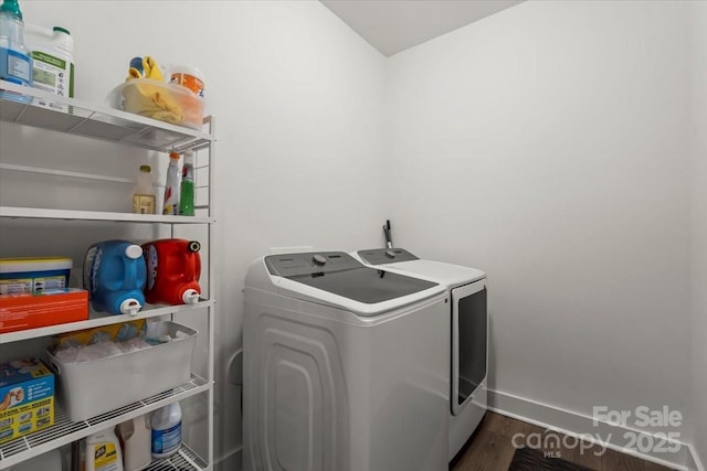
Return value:
[(54, 425), (54, 375), (39, 358), (0, 363), (0, 443)]

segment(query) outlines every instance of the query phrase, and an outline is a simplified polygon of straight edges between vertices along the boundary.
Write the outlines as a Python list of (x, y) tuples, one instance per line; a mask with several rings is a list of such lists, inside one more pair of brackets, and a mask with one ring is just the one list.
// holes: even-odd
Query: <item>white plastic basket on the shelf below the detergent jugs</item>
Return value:
[(189, 383), (199, 332), (170, 321), (151, 329), (175, 340), (76, 363), (63, 363), (46, 351), (56, 376), (56, 399), (71, 420), (85, 420)]

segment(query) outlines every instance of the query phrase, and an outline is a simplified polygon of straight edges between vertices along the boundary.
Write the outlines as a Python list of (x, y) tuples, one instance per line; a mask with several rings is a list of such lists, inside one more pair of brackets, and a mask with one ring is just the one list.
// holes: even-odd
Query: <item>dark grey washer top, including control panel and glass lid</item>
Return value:
[(439, 286), (433, 281), (365, 267), (344, 251), (271, 255), (265, 257), (265, 266), (271, 275), (367, 304)]

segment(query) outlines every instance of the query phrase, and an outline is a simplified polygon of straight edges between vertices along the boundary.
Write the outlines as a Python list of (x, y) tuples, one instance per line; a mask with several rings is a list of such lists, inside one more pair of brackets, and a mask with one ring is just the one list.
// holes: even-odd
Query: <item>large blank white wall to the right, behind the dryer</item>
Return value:
[(499, 394), (687, 420), (688, 23), (530, 1), (390, 58), (397, 243), (488, 272)]

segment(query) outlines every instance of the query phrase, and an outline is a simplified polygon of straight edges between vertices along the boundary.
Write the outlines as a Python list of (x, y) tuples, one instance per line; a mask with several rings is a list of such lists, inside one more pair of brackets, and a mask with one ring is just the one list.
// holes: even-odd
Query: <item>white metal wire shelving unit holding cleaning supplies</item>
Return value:
[[(48, 452), (50, 450), (76, 443), (78, 440), (122, 421), (156, 410), (170, 403), (192, 396), (207, 395), (207, 438), (205, 456), (201, 457), (188, 445), (183, 445), (179, 453), (165, 460), (155, 460), (148, 470), (212, 470), (213, 469), (213, 370), (214, 370), (214, 329), (215, 329), (215, 293), (214, 265), (211, 254), (213, 247), (213, 175), (214, 175), (214, 119), (204, 119), (204, 129), (196, 130), (157, 121), (150, 118), (133, 115), (122, 110), (95, 105), (74, 98), (59, 97), (42, 90), (21, 87), (0, 81), (0, 125), (13, 122), (21, 126), (57, 131), (61, 133), (80, 136), (87, 139), (108, 141), (122, 146), (133, 146), (161, 152), (176, 150), (200, 150), (208, 154), (207, 163), (200, 170), (208, 174), (208, 185), (203, 188), (207, 202), (198, 206), (198, 215), (162, 216), (141, 215), (131, 213), (56, 210), (43, 207), (21, 207), (0, 205), (0, 224), (6, 218), (12, 220), (43, 220), (70, 222), (118, 222), (122, 224), (168, 225), (173, 234), (175, 227), (180, 225), (203, 225), (208, 232), (208, 288), (209, 299), (201, 299), (196, 306), (146, 306), (137, 319), (148, 319), (162, 315), (189, 313), (190, 310), (208, 312), (208, 331), (200, 335), (208, 335), (208, 358), (205, 360), (208, 375), (201, 377), (194, 373), (189, 383), (175, 389), (146, 397), (137, 403), (126, 404), (115, 410), (82, 421), (71, 421), (57, 407), (54, 425), (0, 445), (0, 470), (9, 469), (22, 461)], [(13, 132), (9, 130), (9, 132)], [(0, 162), (1, 172), (32, 172), (49, 175), (74, 176), (93, 180), (122, 181), (110, 175), (86, 172), (66, 172), (55, 169), (32, 168)], [(112, 323), (120, 323), (136, 319), (127, 315), (106, 315), (91, 312), (86, 321), (56, 324), (48, 328), (30, 329), (0, 334), (0, 345), (23, 342), (33, 339), (54, 335), (74, 330), (89, 329)], [(11, 349), (12, 346), (10, 346)]]

